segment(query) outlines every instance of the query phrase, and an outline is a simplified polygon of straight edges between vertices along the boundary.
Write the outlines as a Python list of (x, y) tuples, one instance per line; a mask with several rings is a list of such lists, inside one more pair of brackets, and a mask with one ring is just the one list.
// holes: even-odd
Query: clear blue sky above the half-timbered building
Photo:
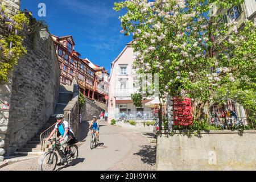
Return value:
[[(116, 0), (118, 1), (118, 0)], [(21, 9), (45, 20), (51, 34), (73, 35), (75, 49), (93, 63), (110, 72), (110, 63), (119, 55), (130, 37), (120, 33), (121, 12), (113, 10), (115, 0), (22, 0)], [(46, 4), (46, 17), (38, 16), (39, 3)], [(124, 13), (124, 12), (122, 12)]]

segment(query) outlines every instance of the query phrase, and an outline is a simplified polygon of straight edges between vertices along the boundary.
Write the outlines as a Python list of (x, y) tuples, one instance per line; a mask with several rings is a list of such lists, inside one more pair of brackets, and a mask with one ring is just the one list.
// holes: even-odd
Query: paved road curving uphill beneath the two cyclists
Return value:
[[(138, 131), (100, 122), (100, 143), (90, 150), (89, 122), (80, 123), (79, 158), (74, 166), (59, 167), (61, 171), (155, 170), (155, 144)], [(38, 170), (39, 158), (6, 166), (0, 170)]]

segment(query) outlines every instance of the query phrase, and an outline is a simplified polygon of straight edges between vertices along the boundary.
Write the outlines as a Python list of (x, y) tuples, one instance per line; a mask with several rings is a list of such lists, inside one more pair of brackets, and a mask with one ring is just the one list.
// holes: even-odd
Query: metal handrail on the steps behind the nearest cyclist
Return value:
[[(69, 113), (64, 116), (64, 120), (69, 122)], [(41, 144), (42, 152), (44, 152), (46, 150), (46, 146), (48, 146), (51, 143), (49, 141), (46, 141), (46, 139), (54, 130), (55, 125), (56, 123), (54, 123), (52, 126), (50, 126), (48, 129), (43, 131), (43, 133), (40, 134), (40, 144)], [(53, 134), (53, 138), (56, 138), (56, 137), (57, 137), (57, 133)]]

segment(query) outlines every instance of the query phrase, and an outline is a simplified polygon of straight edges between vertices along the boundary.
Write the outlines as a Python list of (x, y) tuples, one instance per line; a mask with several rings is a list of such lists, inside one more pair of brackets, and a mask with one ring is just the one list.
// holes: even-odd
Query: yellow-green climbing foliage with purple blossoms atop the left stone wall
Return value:
[(7, 76), (18, 63), (20, 57), (26, 53), (22, 45), (24, 36), (19, 35), (24, 26), (28, 24), (28, 19), (23, 13), (18, 13), (13, 18), (5, 14), (5, 10), (0, 6), (0, 81), (7, 81)]

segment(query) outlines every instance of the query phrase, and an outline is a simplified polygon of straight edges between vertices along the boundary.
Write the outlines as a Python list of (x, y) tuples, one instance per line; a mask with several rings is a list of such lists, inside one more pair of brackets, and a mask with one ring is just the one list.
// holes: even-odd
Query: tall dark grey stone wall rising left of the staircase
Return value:
[(38, 31), (24, 45), (27, 55), (14, 67), (10, 117), (7, 131), (2, 132), (6, 133), (6, 155), (38, 133), (53, 114), (59, 96), (60, 69), (53, 40), (43, 41)]

